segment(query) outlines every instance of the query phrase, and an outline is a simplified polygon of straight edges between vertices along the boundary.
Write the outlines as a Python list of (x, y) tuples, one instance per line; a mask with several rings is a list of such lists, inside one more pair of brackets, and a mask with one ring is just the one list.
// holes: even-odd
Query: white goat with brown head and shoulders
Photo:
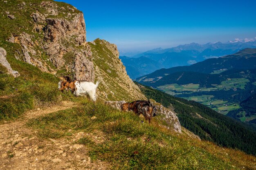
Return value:
[(63, 90), (68, 90), (75, 95), (75, 96), (90, 96), (90, 98), (95, 102), (97, 99), (96, 90), (99, 86), (99, 81), (96, 84), (90, 81), (83, 81), (83, 80), (75, 80), (75, 81), (65, 81), (60, 80), (58, 83), (58, 89), (63, 92)]

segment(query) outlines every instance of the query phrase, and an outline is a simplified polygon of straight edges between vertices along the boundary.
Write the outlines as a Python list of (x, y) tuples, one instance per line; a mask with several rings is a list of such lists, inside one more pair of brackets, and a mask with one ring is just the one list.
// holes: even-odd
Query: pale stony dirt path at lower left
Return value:
[(1, 124), (0, 169), (107, 169), (106, 163), (90, 161), (85, 146), (75, 144), (83, 133), (68, 139), (41, 139), (26, 126), (31, 118), (72, 107), (72, 102), (62, 102), (60, 106), (28, 111), (16, 121)]

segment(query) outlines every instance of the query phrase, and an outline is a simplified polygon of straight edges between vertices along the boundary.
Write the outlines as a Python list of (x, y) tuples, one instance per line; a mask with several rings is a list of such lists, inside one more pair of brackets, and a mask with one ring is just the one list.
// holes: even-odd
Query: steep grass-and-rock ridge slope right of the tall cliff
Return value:
[(95, 39), (89, 43), (92, 50), (96, 79), (101, 81), (99, 93), (104, 100), (142, 100), (137, 85), (126, 74), (115, 44)]

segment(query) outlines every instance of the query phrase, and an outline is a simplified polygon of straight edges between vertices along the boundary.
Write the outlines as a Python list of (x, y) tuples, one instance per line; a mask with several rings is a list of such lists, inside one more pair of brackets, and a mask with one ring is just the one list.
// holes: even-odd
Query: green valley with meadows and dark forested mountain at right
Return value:
[(256, 118), (256, 48), (189, 66), (160, 69), (136, 81), (241, 121), (256, 122), (252, 121)]

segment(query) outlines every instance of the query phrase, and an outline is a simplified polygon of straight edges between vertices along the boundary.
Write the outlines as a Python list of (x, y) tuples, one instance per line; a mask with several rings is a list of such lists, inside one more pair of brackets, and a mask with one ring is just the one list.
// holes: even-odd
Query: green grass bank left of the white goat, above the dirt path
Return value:
[(58, 92), (58, 78), (16, 59), (9, 59), (20, 76), (0, 74), (0, 120), (10, 120), (34, 107), (56, 105), (65, 97)]

